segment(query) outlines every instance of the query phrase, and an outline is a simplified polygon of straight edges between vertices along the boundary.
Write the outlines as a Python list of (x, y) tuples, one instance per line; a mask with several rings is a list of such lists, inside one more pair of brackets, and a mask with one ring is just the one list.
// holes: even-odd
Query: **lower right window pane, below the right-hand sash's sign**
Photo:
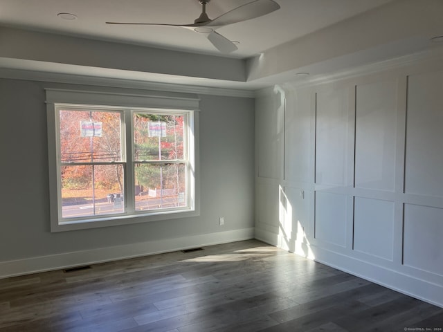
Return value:
[(136, 210), (158, 210), (188, 205), (186, 165), (136, 164)]

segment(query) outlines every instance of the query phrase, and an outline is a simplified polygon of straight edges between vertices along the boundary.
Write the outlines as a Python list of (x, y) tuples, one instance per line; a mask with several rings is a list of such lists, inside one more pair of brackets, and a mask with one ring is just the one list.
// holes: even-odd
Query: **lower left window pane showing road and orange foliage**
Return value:
[(125, 212), (123, 165), (63, 166), (62, 217)]

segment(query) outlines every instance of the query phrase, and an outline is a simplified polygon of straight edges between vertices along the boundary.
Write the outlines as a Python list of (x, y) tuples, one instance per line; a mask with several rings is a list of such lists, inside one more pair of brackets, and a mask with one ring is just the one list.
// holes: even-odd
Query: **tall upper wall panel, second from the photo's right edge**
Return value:
[(395, 190), (397, 82), (356, 87), (355, 186)]

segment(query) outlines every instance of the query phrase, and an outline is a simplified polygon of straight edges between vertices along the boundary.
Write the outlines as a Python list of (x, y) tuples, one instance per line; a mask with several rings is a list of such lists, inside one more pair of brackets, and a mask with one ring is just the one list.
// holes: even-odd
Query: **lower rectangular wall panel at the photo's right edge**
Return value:
[(404, 206), (404, 257), (406, 266), (443, 276), (443, 209)]

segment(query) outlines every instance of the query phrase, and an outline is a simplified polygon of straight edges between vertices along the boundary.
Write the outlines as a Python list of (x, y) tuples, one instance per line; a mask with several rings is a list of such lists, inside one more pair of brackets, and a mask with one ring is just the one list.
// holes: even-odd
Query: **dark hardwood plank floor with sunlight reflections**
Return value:
[(0, 332), (442, 327), (443, 308), (255, 240), (0, 280)]

